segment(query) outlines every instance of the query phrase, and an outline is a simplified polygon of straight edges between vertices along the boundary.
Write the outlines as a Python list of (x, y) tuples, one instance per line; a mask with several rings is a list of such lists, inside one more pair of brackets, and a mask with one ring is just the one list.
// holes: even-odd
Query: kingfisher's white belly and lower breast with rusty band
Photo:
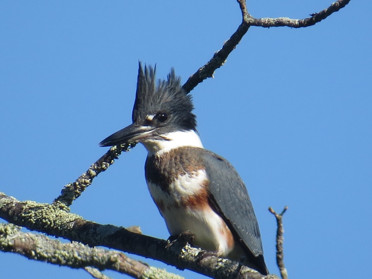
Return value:
[(196, 235), (195, 246), (225, 256), (234, 248), (234, 240), (224, 220), (210, 207), (206, 187), (208, 179), (203, 170), (179, 176), (170, 185), (169, 193), (148, 183), (171, 235), (190, 231)]

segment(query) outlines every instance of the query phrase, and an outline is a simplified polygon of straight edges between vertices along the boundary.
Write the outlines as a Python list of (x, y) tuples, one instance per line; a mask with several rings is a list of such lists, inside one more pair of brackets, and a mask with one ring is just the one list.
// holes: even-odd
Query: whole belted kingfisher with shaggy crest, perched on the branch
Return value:
[(203, 148), (192, 110), (174, 69), (156, 84), (155, 70), (140, 63), (133, 123), (99, 145), (141, 142), (147, 186), (170, 234), (190, 231), (192, 245), (267, 275), (247, 188), (227, 160)]

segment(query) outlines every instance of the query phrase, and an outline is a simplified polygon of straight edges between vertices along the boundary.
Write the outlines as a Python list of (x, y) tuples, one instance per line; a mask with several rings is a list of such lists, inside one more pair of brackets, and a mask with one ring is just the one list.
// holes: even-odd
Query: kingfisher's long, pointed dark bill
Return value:
[(132, 124), (120, 131), (110, 135), (99, 143), (99, 146), (112, 146), (119, 145), (132, 141), (139, 141), (142, 138), (147, 137), (154, 130), (151, 126), (142, 126), (138, 124)]

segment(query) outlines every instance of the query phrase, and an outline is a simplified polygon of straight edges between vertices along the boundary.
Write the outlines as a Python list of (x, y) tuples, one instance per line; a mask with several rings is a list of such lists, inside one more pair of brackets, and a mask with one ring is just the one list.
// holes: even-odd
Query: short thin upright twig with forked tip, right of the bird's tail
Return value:
[(282, 279), (288, 279), (288, 274), (287, 270), (284, 265), (284, 250), (283, 250), (283, 243), (284, 243), (284, 229), (283, 229), (283, 214), (286, 212), (288, 209), (288, 206), (285, 206), (282, 213), (278, 214), (269, 207), (269, 211), (274, 214), (276, 218), (276, 224), (277, 224), (277, 229), (276, 229), (276, 264), (279, 267), (280, 270), (280, 275), (282, 276)]

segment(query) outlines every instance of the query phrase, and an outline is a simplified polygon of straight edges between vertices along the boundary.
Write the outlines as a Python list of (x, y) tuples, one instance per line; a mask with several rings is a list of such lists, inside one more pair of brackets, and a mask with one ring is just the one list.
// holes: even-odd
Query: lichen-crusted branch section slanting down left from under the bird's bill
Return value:
[(83, 193), (86, 187), (92, 184), (94, 177), (112, 165), (122, 151), (127, 152), (134, 146), (135, 143), (130, 143), (111, 147), (110, 150), (93, 163), (85, 173), (81, 174), (74, 183), (65, 185), (61, 191), (61, 195), (58, 196), (53, 203), (63, 203), (65, 206), (70, 206), (73, 201)]

